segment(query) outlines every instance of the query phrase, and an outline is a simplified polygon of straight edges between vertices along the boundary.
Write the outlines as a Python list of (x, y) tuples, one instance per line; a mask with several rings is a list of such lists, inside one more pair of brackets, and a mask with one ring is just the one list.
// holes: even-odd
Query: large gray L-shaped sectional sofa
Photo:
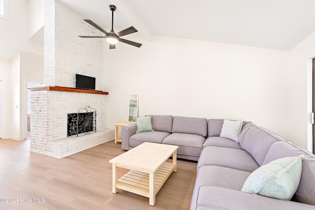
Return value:
[[(243, 122), (239, 143), (220, 137), (223, 120), (152, 116), (155, 131), (123, 127), (122, 149), (143, 142), (179, 146), (178, 158), (197, 162), (190, 210), (315, 210), (315, 155), (252, 122)], [(279, 158), (299, 156), (302, 175), (291, 201), (242, 192), (257, 168)]]

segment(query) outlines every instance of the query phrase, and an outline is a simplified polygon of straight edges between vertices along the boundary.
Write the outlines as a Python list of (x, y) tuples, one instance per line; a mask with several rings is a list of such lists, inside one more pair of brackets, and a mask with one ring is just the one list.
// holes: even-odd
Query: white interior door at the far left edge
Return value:
[(6, 81), (0, 79), (0, 139), (6, 136)]

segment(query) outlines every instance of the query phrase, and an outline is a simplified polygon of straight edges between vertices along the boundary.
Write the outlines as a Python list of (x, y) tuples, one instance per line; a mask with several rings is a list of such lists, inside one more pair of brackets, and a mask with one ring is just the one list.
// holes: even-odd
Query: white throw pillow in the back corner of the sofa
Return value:
[(242, 129), (242, 121), (243, 120), (223, 120), (220, 136), (238, 143), (238, 136)]

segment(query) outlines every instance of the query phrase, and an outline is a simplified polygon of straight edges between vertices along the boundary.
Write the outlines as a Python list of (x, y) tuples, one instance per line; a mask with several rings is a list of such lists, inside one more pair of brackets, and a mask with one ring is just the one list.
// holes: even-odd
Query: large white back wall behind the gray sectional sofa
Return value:
[(139, 116), (242, 119), (287, 134), (288, 52), (156, 35), (126, 39), (141, 48), (103, 45), (107, 127), (126, 121), (129, 94)]

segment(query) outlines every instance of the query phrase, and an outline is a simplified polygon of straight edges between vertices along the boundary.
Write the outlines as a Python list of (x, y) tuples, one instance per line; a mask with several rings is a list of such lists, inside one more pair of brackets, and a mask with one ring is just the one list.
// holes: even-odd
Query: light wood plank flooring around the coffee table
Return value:
[[(108, 161), (123, 152), (121, 144), (110, 141), (59, 159), (31, 152), (29, 139), (0, 140), (0, 210), (189, 210), (196, 162), (177, 161), (177, 172), (152, 207), (149, 198), (124, 190), (112, 193)], [(120, 168), (119, 176), (126, 171)], [(3, 203), (9, 199), (17, 203)]]

